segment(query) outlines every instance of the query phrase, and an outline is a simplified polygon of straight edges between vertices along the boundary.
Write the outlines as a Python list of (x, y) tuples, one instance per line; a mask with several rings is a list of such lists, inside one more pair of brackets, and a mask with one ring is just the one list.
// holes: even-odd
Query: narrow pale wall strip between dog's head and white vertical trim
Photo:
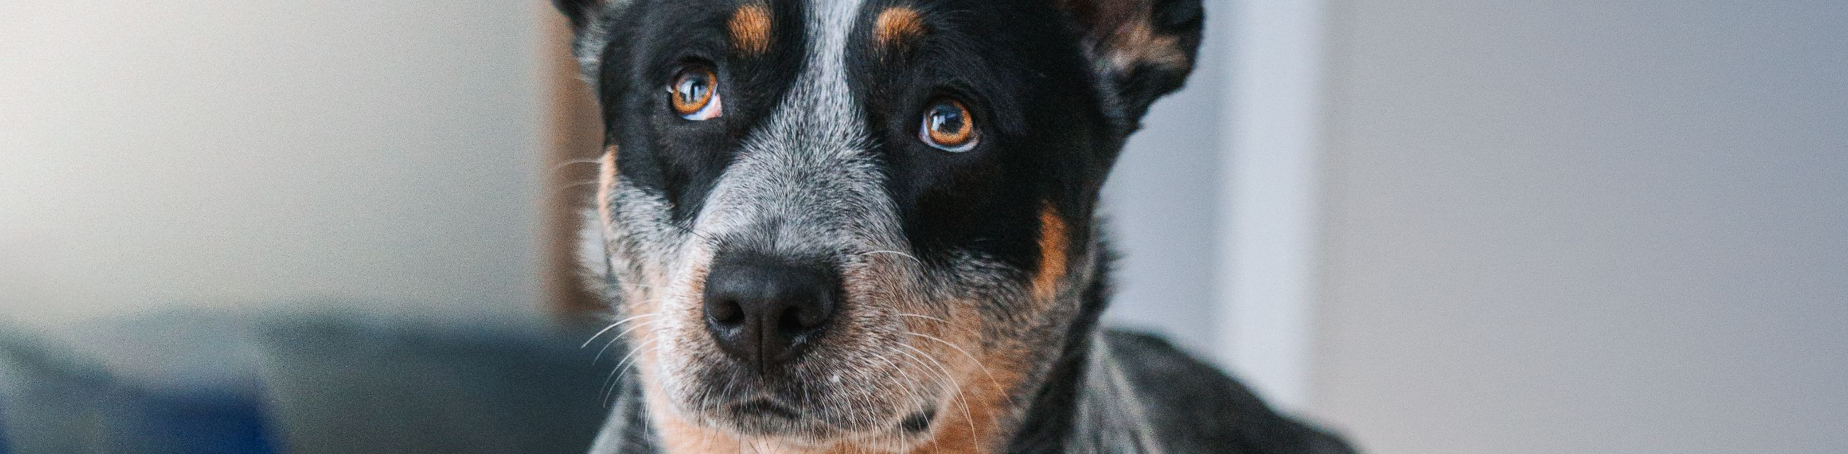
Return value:
[(1186, 87), (1155, 102), (1103, 186), (1116, 262), (1109, 323), (1162, 332), (1216, 356), (1216, 271), (1229, 33), (1227, 4), (1207, 4), (1205, 42)]

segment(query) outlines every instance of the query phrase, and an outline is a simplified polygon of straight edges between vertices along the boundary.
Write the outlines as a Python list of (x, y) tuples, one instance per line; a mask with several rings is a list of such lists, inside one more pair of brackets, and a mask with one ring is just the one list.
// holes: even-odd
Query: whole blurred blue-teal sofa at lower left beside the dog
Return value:
[(237, 312), (0, 329), (0, 454), (584, 452), (610, 364), (582, 336)]

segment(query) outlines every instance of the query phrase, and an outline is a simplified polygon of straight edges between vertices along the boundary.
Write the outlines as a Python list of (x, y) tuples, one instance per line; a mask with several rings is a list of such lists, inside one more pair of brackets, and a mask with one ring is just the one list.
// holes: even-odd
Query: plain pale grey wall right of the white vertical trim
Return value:
[(1318, 413), (1848, 452), (1848, 4), (1336, 0)]

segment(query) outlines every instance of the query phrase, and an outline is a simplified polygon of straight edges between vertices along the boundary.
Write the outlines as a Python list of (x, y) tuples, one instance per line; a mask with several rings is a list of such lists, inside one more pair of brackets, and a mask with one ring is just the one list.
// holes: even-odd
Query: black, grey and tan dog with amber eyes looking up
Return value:
[(591, 452), (1351, 452), (1098, 325), (1098, 190), (1199, 0), (554, 4), (626, 345)]

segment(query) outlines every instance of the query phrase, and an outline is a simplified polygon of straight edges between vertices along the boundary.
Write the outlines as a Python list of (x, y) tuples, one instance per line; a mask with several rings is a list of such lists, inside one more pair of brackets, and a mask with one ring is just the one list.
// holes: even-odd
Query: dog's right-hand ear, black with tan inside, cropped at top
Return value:
[(1085, 37), (1098, 79), (1114, 90), (1127, 125), (1181, 89), (1194, 70), (1201, 0), (1055, 0)]

